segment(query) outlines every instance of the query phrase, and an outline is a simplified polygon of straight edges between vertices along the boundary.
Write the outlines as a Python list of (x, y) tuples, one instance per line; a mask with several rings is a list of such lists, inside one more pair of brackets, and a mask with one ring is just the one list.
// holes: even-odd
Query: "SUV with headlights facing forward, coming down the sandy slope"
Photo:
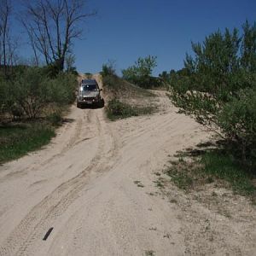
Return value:
[(83, 79), (79, 85), (77, 107), (81, 108), (86, 105), (102, 107), (101, 91), (95, 79)]

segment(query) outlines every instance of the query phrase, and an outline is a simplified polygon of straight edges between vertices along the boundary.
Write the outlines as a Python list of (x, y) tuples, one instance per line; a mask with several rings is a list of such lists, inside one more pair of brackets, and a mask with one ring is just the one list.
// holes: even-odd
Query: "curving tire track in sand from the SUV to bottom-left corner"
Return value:
[[(3, 242), (0, 247), (1, 256), (26, 254), (34, 242), (42, 240), (45, 230), (49, 228), (49, 224), (54, 223), (55, 218), (65, 212), (67, 207), (79, 197), (79, 192), (88, 183), (90, 172), (101, 173), (102, 170), (108, 171), (106, 169), (109, 169), (109, 167), (104, 168), (104, 166), (108, 166), (108, 159), (116, 155), (117, 144), (114, 142), (111, 132), (109, 132), (108, 125), (104, 121), (100, 121), (99, 113), (102, 116), (102, 111), (93, 112), (93, 115), (90, 116), (91, 122), (95, 122), (96, 137), (98, 138), (96, 154), (90, 161), (90, 165), (84, 168), (82, 172), (79, 172), (77, 176), (65, 183), (61, 183), (50, 195), (44, 197), (43, 201), (32, 208)], [(111, 148), (109, 148), (109, 142), (106, 143), (107, 137), (110, 137), (112, 141)], [(72, 139), (70, 147), (72, 147), (74, 141)], [(108, 152), (105, 152), (106, 149)]]

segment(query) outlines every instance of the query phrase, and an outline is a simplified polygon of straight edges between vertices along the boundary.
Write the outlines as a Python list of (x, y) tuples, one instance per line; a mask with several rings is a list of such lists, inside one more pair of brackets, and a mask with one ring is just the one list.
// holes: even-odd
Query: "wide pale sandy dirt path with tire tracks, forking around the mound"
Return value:
[(49, 146), (0, 166), (0, 255), (184, 255), (180, 212), (152, 196), (154, 172), (207, 132), (160, 102), (113, 123), (73, 107)]

